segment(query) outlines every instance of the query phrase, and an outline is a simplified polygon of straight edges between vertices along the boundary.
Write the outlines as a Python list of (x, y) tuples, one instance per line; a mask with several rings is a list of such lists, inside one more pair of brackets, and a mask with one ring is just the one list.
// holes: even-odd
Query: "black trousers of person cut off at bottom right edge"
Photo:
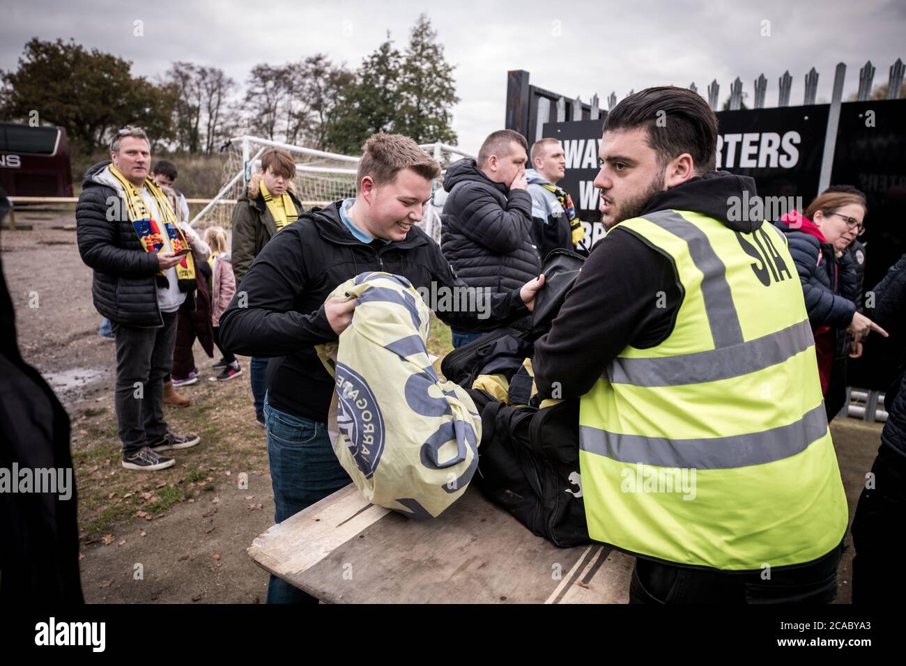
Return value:
[(906, 596), (906, 456), (887, 444), (872, 465), (853, 517), (853, 603), (901, 603)]

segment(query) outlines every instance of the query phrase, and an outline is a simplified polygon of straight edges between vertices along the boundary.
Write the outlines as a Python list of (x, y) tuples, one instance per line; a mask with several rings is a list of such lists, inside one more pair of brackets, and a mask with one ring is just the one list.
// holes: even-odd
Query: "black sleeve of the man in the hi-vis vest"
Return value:
[(539, 393), (587, 393), (626, 346), (650, 348), (666, 340), (681, 303), (670, 258), (616, 227), (593, 247), (550, 333), (535, 343)]

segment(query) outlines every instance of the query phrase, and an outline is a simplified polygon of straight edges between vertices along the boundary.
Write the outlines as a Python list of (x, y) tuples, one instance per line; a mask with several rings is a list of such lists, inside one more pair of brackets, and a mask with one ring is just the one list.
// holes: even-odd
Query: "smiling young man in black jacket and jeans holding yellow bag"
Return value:
[[(276, 505), (282, 522), (351, 481), (327, 434), (333, 378), (314, 351), (337, 339), (356, 302), (333, 298), (337, 285), (368, 271), (406, 277), (413, 287), (464, 289), (440, 247), (415, 224), (431, 198), (440, 166), (415, 141), (375, 134), (365, 143), (355, 198), (313, 208), (265, 246), (220, 318), (220, 335), (236, 353), (268, 355), (265, 419)], [(543, 280), (490, 297), (487, 312), (441, 312), (447, 323), (487, 330), (528, 314)], [(274, 576), (268, 603), (312, 597)]]

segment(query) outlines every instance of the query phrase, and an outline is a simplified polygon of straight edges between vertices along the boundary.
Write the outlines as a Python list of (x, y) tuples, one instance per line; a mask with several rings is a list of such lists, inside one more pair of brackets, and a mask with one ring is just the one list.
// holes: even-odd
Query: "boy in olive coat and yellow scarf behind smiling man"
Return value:
[[(276, 148), (265, 150), (261, 156), (261, 172), (249, 179), (246, 192), (236, 201), (231, 254), (239, 293), (255, 257), (278, 231), (295, 222), (303, 212), (302, 204), (295, 196), (294, 178), (295, 162), (289, 152)], [(255, 420), (264, 426), (267, 359), (253, 356), (250, 366)]]

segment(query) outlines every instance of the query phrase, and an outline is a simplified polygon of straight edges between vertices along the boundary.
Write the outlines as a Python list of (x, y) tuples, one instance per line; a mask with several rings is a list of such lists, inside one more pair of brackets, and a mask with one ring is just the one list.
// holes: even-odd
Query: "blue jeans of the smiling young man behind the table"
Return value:
[[(352, 483), (333, 453), (327, 424), (276, 410), (266, 400), (265, 423), (275, 522), (282, 523)], [(271, 575), (267, 603), (316, 602), (314, 597)]]

